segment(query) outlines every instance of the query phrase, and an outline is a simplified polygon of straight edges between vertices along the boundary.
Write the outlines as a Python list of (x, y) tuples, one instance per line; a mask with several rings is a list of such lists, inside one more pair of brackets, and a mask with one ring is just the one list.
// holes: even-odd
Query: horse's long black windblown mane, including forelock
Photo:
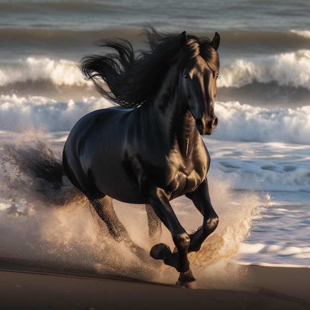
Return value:
[(103, 40), (98, 44), (100, 47), (116, 52), (88, 55), (81, 60), (84, 78), (92, 80), (98, 92), (113, 103), (140, 106), (155, 92), (161, 75), (173, 61), (182, 66), (198, 53), (213, 71), (218, 70), (218, 54), (206, 37), (187, 35), (187, 48), (182, 48), (181, 34), (159, 33), (151, 26), (143, 33), (148, 39), (147, 50), (135, 52), (131, 43), (123, 39)]

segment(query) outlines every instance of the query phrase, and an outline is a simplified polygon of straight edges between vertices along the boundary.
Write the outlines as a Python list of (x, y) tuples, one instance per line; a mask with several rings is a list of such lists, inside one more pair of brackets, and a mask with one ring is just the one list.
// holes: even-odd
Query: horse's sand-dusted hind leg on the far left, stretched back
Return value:
[(118, 219), (112, 204), (112, 198), (106, 195), (102, 196), (100, 194), (86, 196), (91, 202), (92, 206), (95, 208), (100, 218), (106, 224), (110, 235), (117, 242), (125, 242), (130, 250), (137, 256), (144, 256), (145, 250), (136, 245), (130, 239), (125, 226)]

